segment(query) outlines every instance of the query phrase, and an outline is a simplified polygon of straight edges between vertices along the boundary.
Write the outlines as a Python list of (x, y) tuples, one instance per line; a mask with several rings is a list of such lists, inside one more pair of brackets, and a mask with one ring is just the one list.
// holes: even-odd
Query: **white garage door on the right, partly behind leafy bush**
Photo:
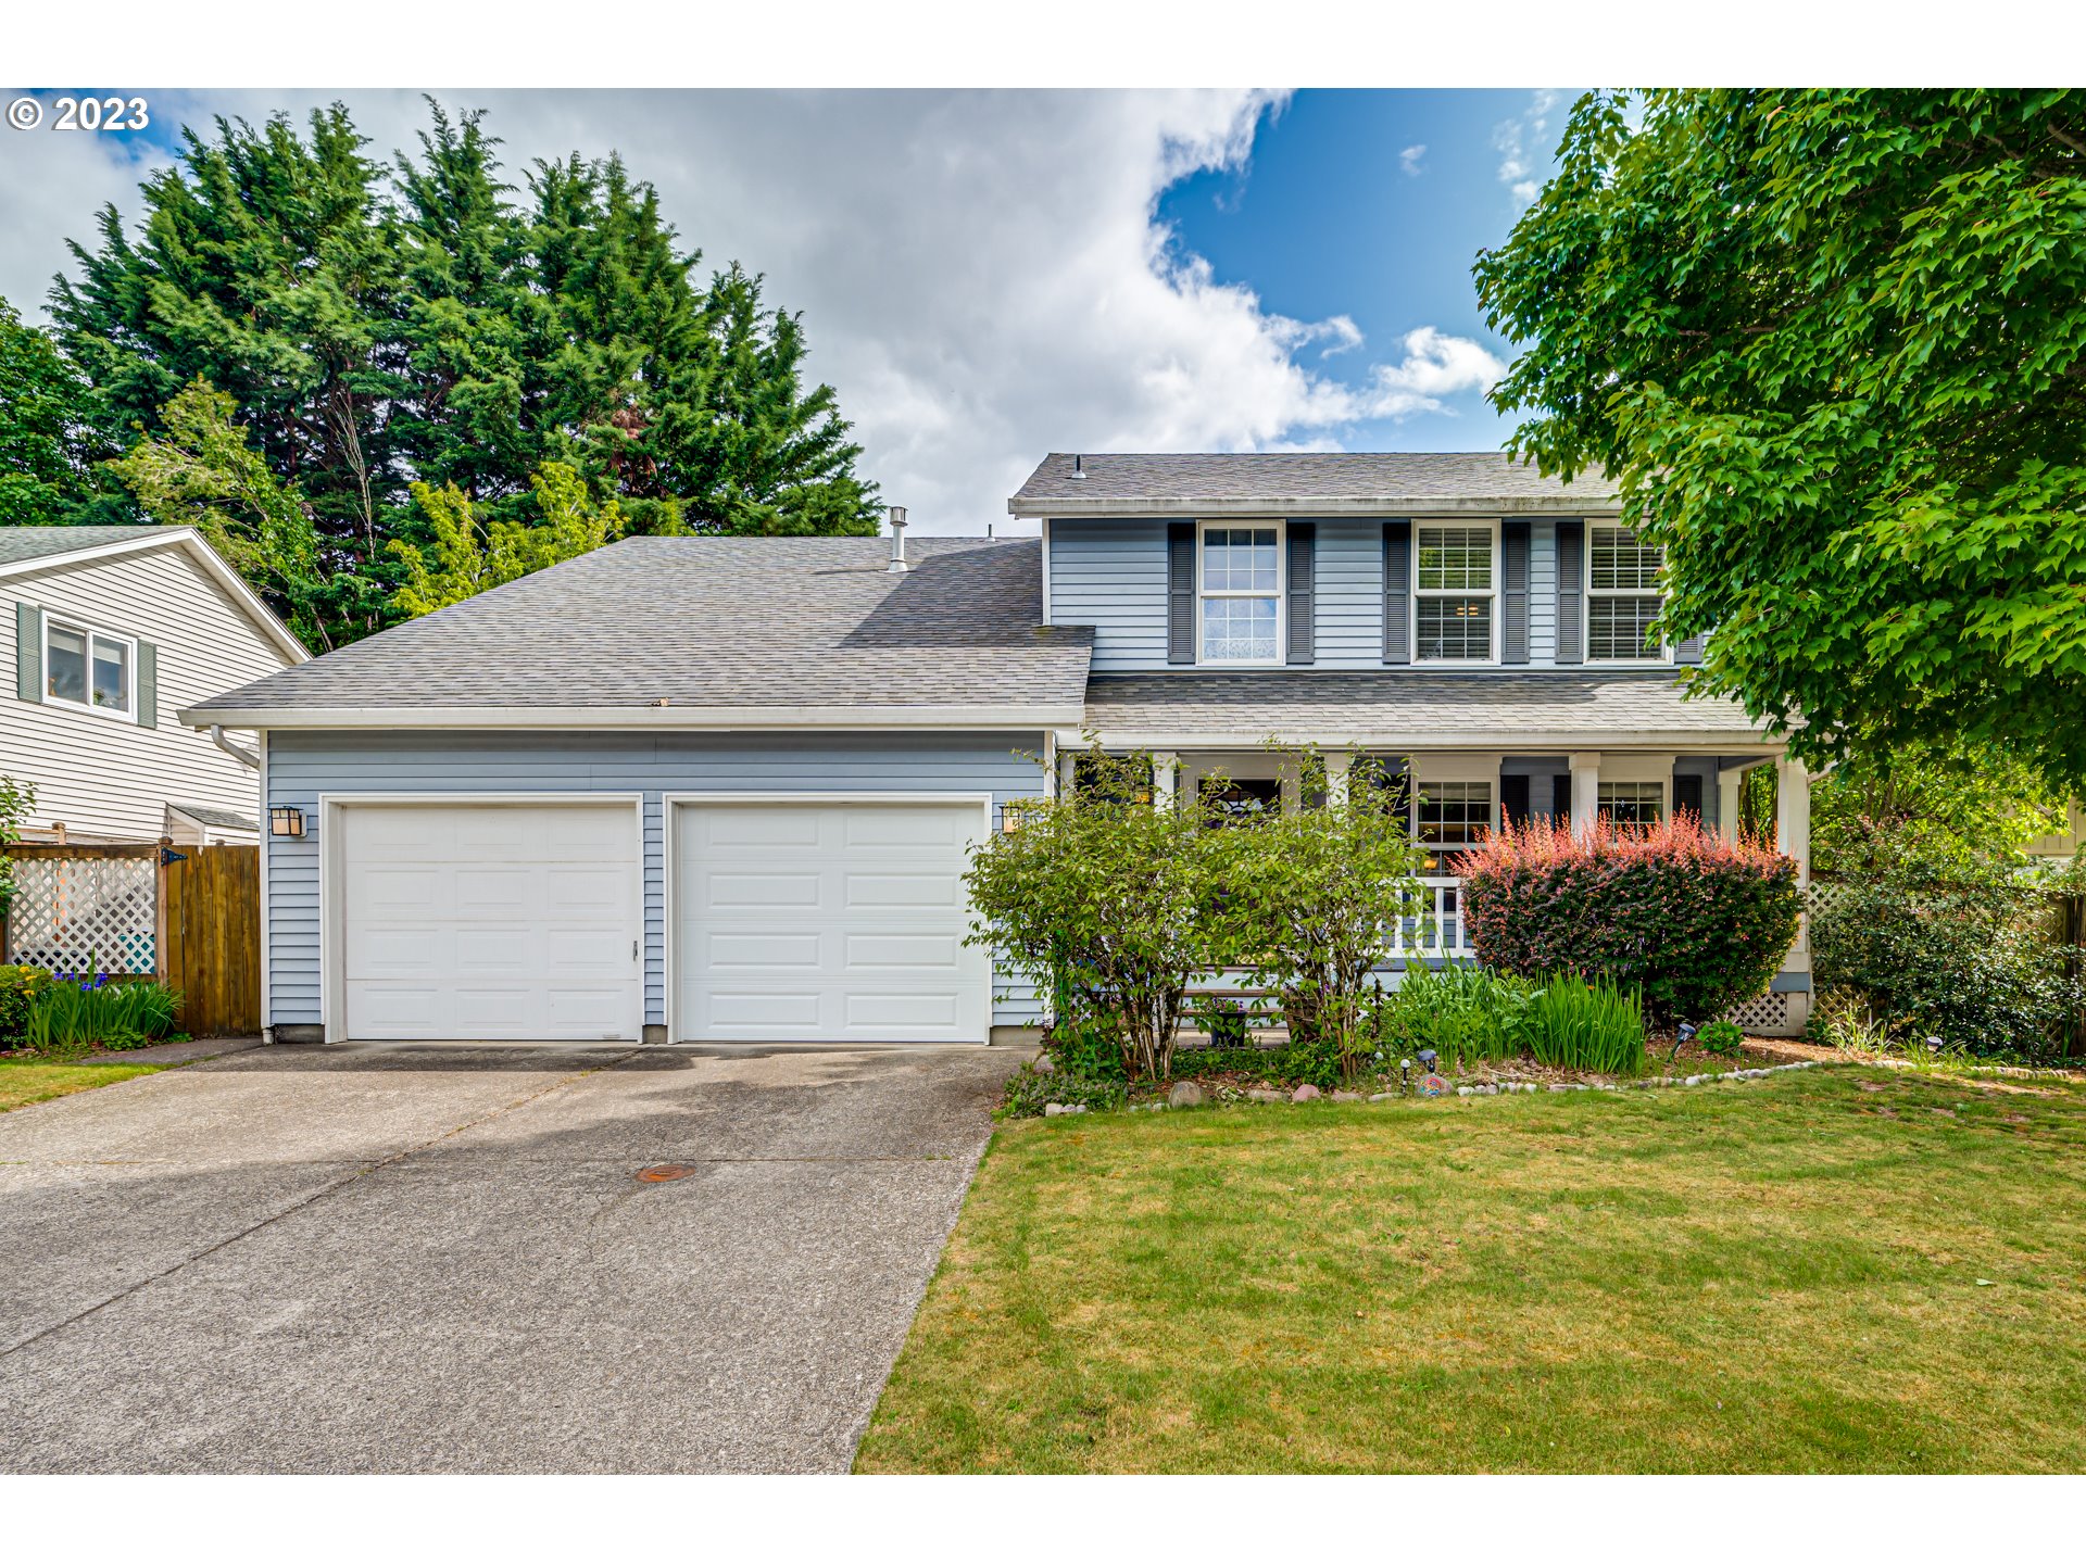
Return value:
[(745, 1043), (985, 1043), (964, 945), (983, 801), (684, 803), (676, 1030)]

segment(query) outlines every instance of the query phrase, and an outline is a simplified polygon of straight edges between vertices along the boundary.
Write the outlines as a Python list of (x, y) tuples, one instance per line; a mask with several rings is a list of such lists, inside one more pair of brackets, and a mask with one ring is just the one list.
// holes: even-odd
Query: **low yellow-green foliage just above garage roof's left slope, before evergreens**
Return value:
[(622, 507), (615, 500), (597, 505), (565, 463), (544, 463), (530, 486), (540, 513), (534, 523), (482, 515), (455, 484), (413, 484), (430, 542), (426, 548), (390, 544), (405, 561), (398, 607), (413, 617), (434, 613), (622, 536)]

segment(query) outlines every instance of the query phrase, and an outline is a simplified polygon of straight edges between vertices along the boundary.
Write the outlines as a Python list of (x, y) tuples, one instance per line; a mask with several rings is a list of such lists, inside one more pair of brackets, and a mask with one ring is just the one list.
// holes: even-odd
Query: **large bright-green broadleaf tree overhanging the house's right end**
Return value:
[(1590, 94), (1475, 271), (1512, 448), (1621, 478), (1696, 686), (2086, 784), (2078, 94)]

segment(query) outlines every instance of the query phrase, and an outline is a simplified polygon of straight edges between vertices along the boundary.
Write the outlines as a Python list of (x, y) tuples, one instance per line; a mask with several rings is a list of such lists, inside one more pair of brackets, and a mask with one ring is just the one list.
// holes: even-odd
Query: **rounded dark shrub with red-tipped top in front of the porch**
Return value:
[(1694, 815), (1585, 838), (1537, 815), (1464, 853), (1462, 901), (1485, 966), (1577, 972), (1638, 988), (1658, 1024), (1767, 993), (1796, 940), (1796, 863), (1727, 842)]

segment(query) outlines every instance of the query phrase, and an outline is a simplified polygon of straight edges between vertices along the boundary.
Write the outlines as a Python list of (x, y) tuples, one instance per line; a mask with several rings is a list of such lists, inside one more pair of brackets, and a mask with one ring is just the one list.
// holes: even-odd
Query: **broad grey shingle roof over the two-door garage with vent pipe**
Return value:
[(1035, 538), (626, 538), (200, 707), (1064, 705)]

